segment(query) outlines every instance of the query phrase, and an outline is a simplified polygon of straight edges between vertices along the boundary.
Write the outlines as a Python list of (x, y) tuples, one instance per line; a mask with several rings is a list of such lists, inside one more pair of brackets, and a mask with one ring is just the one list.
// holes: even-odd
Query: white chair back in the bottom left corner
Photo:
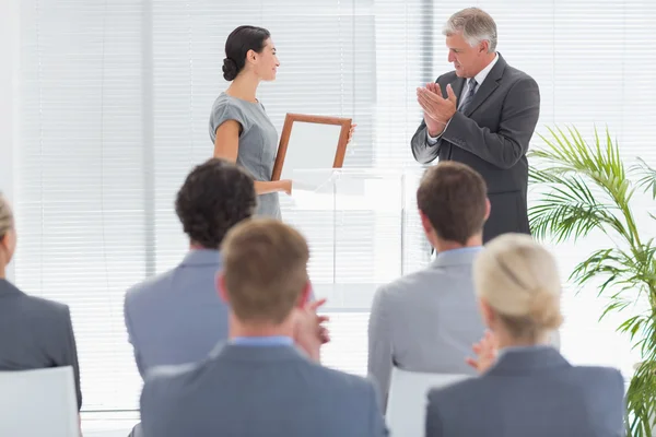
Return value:
[(0, 436), (79, 437), (72, 367), (0, 371)]

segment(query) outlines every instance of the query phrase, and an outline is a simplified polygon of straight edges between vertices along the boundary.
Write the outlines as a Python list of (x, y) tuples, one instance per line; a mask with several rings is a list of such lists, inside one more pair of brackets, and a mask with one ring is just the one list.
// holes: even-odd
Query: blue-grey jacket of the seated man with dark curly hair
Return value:
[(130, 288), (124, 314), (141, 376), (194, 363), (227, 339), (227, 306), (216, 291), (218, 250), (191, 250), (171, 271)]

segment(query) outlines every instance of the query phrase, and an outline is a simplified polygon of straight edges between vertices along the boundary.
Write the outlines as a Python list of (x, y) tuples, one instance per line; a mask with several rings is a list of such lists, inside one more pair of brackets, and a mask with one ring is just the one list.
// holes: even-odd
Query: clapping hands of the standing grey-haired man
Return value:
[(424, 110), (424, 121), (431, 137), (437, 137), (450, 118), (456, 114), (456, 93), (450, 84), (446, 85), (448, 98), (442, 96), (438, 83), (427, 83), (424, 87), (417, 88), (417, 102)]

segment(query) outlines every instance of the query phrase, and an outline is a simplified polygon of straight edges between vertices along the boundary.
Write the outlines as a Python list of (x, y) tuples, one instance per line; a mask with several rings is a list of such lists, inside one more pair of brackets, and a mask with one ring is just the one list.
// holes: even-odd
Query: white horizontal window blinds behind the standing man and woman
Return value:
[[(539, 0), (519, 12), (507, 0), (476, 3), (496, 20), (501, 54), (540, 84), (538, 132), (553, 123), (572, 123), (584, 133), (608, 126), (628, 160), (640, 155), (655, 163), (647, 140), (656, 129), (649, 68), (656, 51), (635, 42), (648, 36), (656, 5)], [(122, 297), (130, 285), (175, 265), (187, 248), (173, 201), (191, 166), (212, 153), (208, 118), (227, 85), (221, 72), (227, 34), (247, 23), (271, 31), (281, 68), (259, 97), (279, 130), (285, 113), (352, 117), (358, 129), (347, 167), (419, 169), (409, 145), (421, 121), (414, 90), (452, 69), (442, 25), (469, 5), (21, 2), (15, 279), (27, 293), (71, 306), (85, 410), (137, 408), (141, 380), (127, 343)], [(536, 135), (532, 146), (539, 144)], [(313, 262), (320, 261), (311, 269), (317, 286), (331, 281), (324, 260), (332, 259), (327, 253), (336, 247), (323, 239), (325, 226), (341, 226), (339, 284), (365, 292), (358, 305), (333, 303), (333, 341), (324, 359), (363, 374), (367, 298), (377, 283), (425, 263), (419, 220), (408, 211), (401, 265), (390, 261), (399, 248), (398, 215), (356, 209), (340, 212), (335, 223), (297, 211), (284, 196), (282, 206), (309, 239)], [(563, 275), (594, 245), (553, 247)], [(625, 369), (635, 357), (612, 332), (612, 320), (597, 322), (595, 296), (594, 290), (565, 295), (563, 351), (576, 363)]]

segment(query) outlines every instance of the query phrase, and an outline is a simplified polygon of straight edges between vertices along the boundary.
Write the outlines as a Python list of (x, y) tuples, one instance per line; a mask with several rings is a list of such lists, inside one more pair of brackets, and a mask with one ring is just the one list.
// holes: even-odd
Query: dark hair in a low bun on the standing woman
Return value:
[(234, 80), (246, 66), (246, 54), (254, 50), (261, 54), (265, 43), (271, 37), (269, 31), (256, 26), (239, 26), (232, 31), (225, 42), (225, 59), (223, 60), (223, 78)]

